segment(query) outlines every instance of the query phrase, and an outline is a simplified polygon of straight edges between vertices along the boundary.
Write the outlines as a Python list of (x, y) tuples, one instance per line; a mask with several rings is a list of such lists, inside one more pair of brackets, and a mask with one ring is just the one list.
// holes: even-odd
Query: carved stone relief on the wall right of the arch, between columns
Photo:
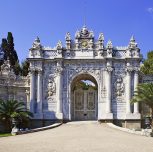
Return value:
[(116, 79), (116, 82), (114, 84), (115, 87), (115, 95), (116, 97), (121, 97), (124, 93), (125, 86), (123, 84), (123, 79), (121, 77), (118, 77)]

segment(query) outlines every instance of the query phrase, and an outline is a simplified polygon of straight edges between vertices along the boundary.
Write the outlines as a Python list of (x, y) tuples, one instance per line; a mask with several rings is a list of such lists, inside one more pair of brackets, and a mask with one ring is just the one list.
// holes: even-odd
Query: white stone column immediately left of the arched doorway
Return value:
[(62, 75), (62, 67), (57, 67), (56, 69), (56, 99), (57, 99), (57, 110), (56, 117), (57, 119), (63, 119), (62, 112), (62, 93), (63, 93), (63, 75)]

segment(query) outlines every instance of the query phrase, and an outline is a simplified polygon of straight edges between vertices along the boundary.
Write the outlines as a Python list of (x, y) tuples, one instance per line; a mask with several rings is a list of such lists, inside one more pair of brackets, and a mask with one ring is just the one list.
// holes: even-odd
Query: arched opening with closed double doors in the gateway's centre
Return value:
[[(85, 83), (88, 82), (89, 84)], [(72, 120), (97, 120), (98, 84), (90, 74), (79, 74), (71, 83)]]

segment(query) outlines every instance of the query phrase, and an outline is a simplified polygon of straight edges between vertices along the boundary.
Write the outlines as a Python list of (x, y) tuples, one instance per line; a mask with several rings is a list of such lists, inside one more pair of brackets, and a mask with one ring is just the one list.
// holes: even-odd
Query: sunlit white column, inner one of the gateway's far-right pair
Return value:
[(126, 73), (126, 114), (131, 114), (131, 72), (132, 68), (127, 67), (127, 73)]

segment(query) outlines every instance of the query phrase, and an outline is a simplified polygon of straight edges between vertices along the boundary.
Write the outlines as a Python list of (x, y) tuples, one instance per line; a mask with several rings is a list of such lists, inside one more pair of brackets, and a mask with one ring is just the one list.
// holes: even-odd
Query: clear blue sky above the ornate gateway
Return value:
[(144, 57), (153, 50), (153, 0), (0, 0), (0, 40), (12, 32), (22, 61), (36, 36), (44, 46), (65, 44), (66, 32), (74, 38), (84, 16), (95, 38), (104, 33), (105, 44), (126, 46), (134, 35)]

